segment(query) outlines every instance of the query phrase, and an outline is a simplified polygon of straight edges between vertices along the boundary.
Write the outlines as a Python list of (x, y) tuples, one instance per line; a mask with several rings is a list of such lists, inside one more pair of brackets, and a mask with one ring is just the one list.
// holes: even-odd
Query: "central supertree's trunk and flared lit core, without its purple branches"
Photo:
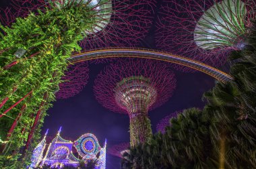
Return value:
[(131, 146), (146, 142), (152, 136), (151, 127), (148, 127), (148, 108), (156, 101), (157, 95), (150, 79), (143, 76), (123, 78), (114, 92), (117, 104), (126, 109), (130, 117)]

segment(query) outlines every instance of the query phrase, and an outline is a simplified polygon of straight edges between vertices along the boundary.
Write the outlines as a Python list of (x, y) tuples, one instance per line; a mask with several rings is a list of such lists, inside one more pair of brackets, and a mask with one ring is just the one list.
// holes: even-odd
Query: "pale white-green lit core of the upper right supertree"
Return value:
[(204, 50), (241, 48), (247, 8), (241, 0), (224, 0), (207, 9), (195, 25), (194, 40)]

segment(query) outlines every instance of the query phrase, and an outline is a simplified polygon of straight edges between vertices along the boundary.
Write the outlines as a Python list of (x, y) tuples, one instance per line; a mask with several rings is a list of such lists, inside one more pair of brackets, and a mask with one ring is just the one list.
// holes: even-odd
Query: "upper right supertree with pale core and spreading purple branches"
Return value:
[[(158, 19), (158, 48), (223, 65), (232, 50), (246, 46), (251, 20), (255, 19), (253, 0), (164, 0)], [(181, 68), (181, 67), (179, 67)]]

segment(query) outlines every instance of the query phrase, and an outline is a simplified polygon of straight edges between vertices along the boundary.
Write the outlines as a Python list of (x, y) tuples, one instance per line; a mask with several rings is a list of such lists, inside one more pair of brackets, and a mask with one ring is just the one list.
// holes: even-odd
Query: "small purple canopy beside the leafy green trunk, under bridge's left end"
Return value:
[(59, 91), (55, 94), (56, 98), (67, 99), (81, 92), (88, 83), (88, 72), (88, 62), (69, 65), (65, 76), (61, 78), (63, 82), (59, 84)]

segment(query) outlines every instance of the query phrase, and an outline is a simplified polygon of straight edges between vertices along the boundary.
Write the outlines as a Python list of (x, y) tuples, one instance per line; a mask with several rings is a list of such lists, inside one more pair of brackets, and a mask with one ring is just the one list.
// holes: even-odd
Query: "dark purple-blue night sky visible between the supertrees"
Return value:
[[(9, 0), (1, 0), (1, 7)], [(160, 5), (160, 2), (158, 2)], [(141, 47), (156, 49), (154, 44), (154, 25), (148, 36), (141, 42)], [(113, 113), (102, 107), (93, 93), (94, 79), (107, 64), (90, 64), (90, 78), (84, 90), (65, 100), (58, 100), (49, 109), (49, 116), (44, 120), (42, 133), (49, 129), (49, 135), (56, 135), (62, 126), (61, 135), (73, 140), (84, 133), (93, 133), (98, 137), (100, 146), (107, 139), (107, 148), (129, 142), (129, 117)], [(177, 78), (177, 88), (167, 103), (150, 111), (152, 130), (156, 132), (156, 124), (160, 119), (174, 111), (189, 107), (203, 107), (202, 94), (214, 86), (214, 78), (201, 72), (184, 73), (174, 70)], [(106, 168), (119, 168), (119, 158), (106, 156)]]

